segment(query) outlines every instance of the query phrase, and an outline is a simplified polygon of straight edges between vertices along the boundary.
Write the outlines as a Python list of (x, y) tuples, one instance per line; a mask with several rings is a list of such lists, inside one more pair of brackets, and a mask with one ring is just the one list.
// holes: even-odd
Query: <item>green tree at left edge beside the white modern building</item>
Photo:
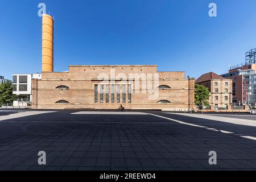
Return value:
[(13, 86), (10, 81), (0, 84), (0, 105), (4, 103), (13, 103), (14, 97)]

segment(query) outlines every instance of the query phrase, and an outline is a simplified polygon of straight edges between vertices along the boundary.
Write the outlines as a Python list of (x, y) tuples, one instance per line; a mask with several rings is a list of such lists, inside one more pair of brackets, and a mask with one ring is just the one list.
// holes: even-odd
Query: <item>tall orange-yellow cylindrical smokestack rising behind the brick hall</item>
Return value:
[(53, 18), (43, 15), (42, 23), (42, 72), (53, 72)]

